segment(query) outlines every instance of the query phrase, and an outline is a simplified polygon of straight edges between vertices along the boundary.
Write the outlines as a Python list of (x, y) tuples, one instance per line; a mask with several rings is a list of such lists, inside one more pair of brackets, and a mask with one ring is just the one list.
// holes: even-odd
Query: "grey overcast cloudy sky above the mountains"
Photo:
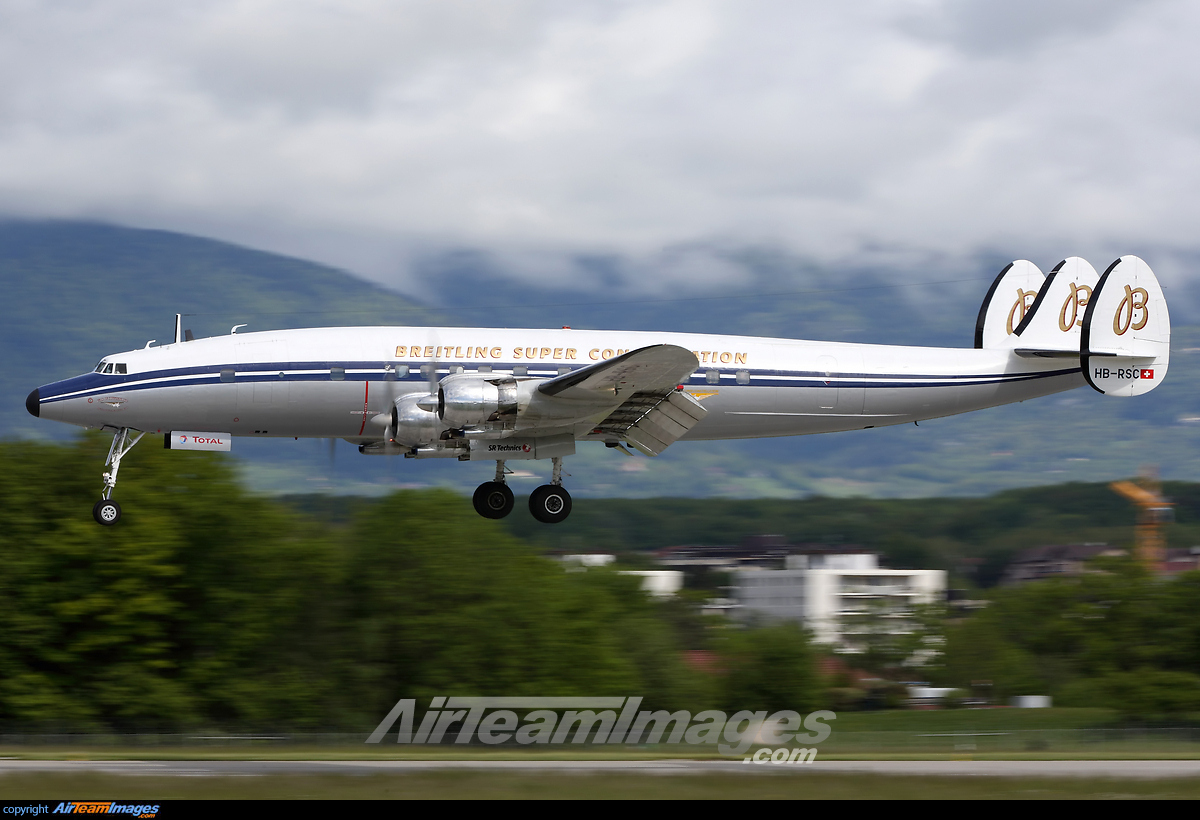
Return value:
[(1200, 5), (0, 0), (0, 214), (402, 288), (1200, 249)]

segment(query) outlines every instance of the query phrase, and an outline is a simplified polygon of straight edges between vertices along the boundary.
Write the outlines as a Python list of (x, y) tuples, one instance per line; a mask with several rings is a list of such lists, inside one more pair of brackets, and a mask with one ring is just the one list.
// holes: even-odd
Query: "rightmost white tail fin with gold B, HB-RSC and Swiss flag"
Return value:
[(1104, 271), (1084, 315), (1084, 377), (1109, 396), (1140, 396), (1166, 376), (1171, 317), (1158, 279), (1145, 262), (1123, 256)]

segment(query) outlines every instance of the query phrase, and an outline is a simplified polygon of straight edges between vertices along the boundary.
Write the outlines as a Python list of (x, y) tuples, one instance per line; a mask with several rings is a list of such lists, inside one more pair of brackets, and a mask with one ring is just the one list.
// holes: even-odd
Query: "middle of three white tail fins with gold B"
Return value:
[(1096, 268), (1078, 256), (1055, 265), (1013, 331), (1020, 337), (1013, 347), (1025, 355), (1079, 355), (1084, 312), (1099, 279)]

